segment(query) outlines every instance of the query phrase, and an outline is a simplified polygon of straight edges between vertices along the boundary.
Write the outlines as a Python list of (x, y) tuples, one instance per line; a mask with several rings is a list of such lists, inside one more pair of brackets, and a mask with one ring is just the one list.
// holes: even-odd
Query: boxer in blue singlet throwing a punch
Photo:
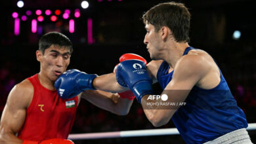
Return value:
[[(207, 52), (188, 45), (188, 9), (182, 3), (161, 3), (142, 19), (150, 63), (125, 60), (117, 66), (116, 75), (86, 78), (82, 80), (86, 84), (75, 81), (75, 85), (109, 92), (128, 87), (154, 126), (163, 126), (172, 119), (186, 143), (251, 143), (245, 115), (221, 70)], [(163, 88), (158, 95), (152, 90), (156, 81)]]

